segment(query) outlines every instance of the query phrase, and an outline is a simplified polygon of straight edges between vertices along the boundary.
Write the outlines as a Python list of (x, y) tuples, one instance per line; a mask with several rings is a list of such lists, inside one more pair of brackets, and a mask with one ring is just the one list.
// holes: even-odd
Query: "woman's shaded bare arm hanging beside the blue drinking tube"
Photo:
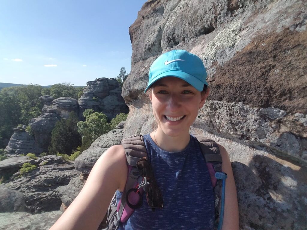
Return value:
[(230, 159), (226, 149), (219, 145), (223, 160), (222, 171), (227, 174), (225, 189), (225, 209), (222, 230), (239, 229), (239, 207), (235, 179), (233, 177)]

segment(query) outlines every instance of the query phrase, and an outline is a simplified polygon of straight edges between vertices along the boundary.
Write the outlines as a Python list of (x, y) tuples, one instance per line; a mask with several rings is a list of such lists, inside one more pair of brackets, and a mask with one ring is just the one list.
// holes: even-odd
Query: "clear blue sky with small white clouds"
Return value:
[(0, 82), (85, 86), (131, 68), (129, 26), (146, 0), (1, 0)]

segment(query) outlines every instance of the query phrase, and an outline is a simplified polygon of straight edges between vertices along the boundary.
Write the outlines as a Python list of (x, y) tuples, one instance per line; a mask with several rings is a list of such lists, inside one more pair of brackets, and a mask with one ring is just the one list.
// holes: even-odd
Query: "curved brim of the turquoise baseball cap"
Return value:
[(188, 82), (191, 86), (193, 86), (196, 90), (198, 91), (203, 91), (204, 89), (204, 85), (208, 86), (208, 83), (202, 82), (199, 79), (197, 79), (196, 77), (194, 77), (193, 75), (190, 75), (186, 72), (183, 71), (179, 71), (179, 70), (172, 70), (172, 71), (167, 71), (164, 73), (161, 73), (160, 75), (158, 75), (157, 77), (155, 77), (146, 87), (144, 93), (146, 93), (146, 91), (150, 88), (150, 86), (152, 86), (153, 83), (155, 83), (156, 81), (165, 78), (165, 77), (176, 77), (179, 79), (182, 79), (186, 82)]

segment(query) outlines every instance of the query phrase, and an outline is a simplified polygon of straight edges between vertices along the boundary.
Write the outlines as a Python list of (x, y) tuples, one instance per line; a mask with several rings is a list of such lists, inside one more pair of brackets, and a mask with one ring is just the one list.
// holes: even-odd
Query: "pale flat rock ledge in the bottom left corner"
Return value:
[(53, 211), (32, 215), (30, 213), (0, 213), (0, 230), (48, 230), (62, 212)]

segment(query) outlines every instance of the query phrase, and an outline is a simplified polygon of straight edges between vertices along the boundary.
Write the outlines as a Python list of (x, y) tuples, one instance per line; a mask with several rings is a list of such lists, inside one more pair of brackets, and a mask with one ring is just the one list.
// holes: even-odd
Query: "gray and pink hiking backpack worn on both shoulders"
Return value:
[[(220, 149), (215, 141), (205, 138), (203, 136), (194, 135), (200, 144), (200, 149), (204, 160), (208, 167), (208, 171), (211, 177), (212, 186), (214, 188), (214, 205), (215, 205), (215, 229), (220, 229), (220, 213), (221, 213), (221, 198), (222, 197), (222, 180), (218, 180), (215, 176), (216, 172), (222, 171), (222, 157), (220, 155)], [(107, 230), (116, 230), (119, 227), (120, 222), (124, 223), (134, 212), (134, 207), (131, 203), (137, 203), (142, 201), (142, 189), (143, 177), (140, 175), (136, 168), (136, 163), (143, 157), (147, 158), (146, 146), (142, 135), (134, 135), (122, 140), (122, 146), (124, 148), (127, 163), (128, 163), (128, 175), (125, 189), (122, 193), (122, 197), (119, 203), (116, 203), (116, 192), (111, 200), (110, 206), (107, 211)], [(148, 158), (147, 158), (148, 159)], [(224, 183), (224, 181), (223, 181)], [(141, 186), (139, 186), (141, 185)], [(141, 187), (139, 193), (129, 194), (129, 200), (127, 203), (127, 192), (130, 189)], [(223, 201), (222, 201), (223, 202)], [(137, 205), (135, 205), (137, 206)], [(223, 205), (222, 205), (223, 209)], [(222, 210), (223, 211), (223, 210)], [(223, 213), (222, 213), (223, 216)], [(221, 219), (222, 219), (221, 216)], [(219, 227), (218, 227), (219, 225)]]

